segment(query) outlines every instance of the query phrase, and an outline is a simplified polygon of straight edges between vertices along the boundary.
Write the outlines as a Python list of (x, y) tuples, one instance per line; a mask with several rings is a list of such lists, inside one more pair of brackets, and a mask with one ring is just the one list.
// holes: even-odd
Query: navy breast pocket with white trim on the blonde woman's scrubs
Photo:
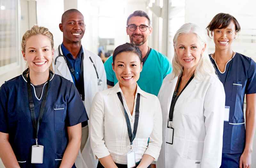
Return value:
[(54, 105), (54, 131), (65, 128), (64, 111), (64, 104)]

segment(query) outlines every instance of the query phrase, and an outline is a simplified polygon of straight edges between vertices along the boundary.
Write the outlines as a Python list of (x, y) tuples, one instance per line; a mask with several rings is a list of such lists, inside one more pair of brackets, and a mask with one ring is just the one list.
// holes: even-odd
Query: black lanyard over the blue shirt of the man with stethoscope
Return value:
[[(60, 46), (59, 46), (59, 53), (60, 53)], [(72, 73), (72, 75), (75, 78), (76, 89), (78, 90), (82, 100), (84, 101), (84, 89), (83, 89), (84, 82), (81, 82), (81, 81), (84, 81), (84, 63), (83, 63), (84, 53), (81, 54), (81, 59), (82, 59), (82, 62), (81, 62), (81, 67), (80, 67), (80, 84), (78, 84), (78, 82), (77, 82), (76, 73), (75, 73), (75, 70), (72, 68), (71, 63), (68, 61), (68, 59), (66, 59), (66, 61), (67, 61), (68, 69), (70, 70), (70, 72)]]

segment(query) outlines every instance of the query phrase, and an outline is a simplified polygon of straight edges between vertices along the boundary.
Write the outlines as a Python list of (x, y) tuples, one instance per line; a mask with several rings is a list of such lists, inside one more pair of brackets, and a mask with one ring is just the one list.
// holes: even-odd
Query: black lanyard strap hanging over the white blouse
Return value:
[[(124, 102), (123, 102), (123, 98), (122, 98), (121, 92), (118, 92), (117, 96), (118, 96), (119, 100), (121, 101), (121, 103), (122, 103), (122, 105), (124, 107)], [(126, 120), (126, 124), (127, 124), (127, 128), (128, 128), (128, 135), (129, 135), (129, 139), (130, 139), (131, 145), (132, 145), (132, 141), (134, 140), (134, 138), (136, 136), (136, 132), (137, 132), (137, 128), (138, 128), (138, 123), (139, 123), (139, 114), (140, 114), (140, 93), (137, 94), (133, 132), (132, 132), (129, 116), (128, 116), (125, 108), (124, 108), (124, 115), (125, 115), (125, 120)]]

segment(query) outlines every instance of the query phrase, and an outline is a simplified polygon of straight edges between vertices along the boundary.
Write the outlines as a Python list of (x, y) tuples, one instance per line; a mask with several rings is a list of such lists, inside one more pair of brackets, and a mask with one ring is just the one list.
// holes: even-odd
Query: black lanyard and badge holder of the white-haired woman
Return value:
[(180, 94), (177, 96), (179, 88), (180, 88), (181, 76), (182, 76), (182, 74), (180, 75), (176, 91), (174, 91), (173, 96), (172, 96), (172, 102), (171, 102), (171, 107), (170, 107), (170, 112), (169, 112), (169, 119), (168, 119), (168, 124), (167, 124), (167, 129), (166, 129), (166, 143), (169, 143), (171, 145), (173, 144), (173, 133), (174, 133), (174, 128), (172, 128), (172, 118), (173, 118), (174, 106), (175, 106), (180, 94), (182, 93), (182, 91), (184, 91), (184, 89), (188, 86), (188, 84), (194, 78), (194, 74), (190, 77), (190, 79), (188, 80), (188, 83), (184, 86), (184, 88), (182, 89)]

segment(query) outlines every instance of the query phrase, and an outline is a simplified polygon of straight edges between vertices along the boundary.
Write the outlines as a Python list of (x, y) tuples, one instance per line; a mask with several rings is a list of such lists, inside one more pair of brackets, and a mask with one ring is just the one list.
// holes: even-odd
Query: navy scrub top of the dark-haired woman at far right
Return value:
[[(228, 73), (230, 61), (223, 73), (215, 60), (210, 59), (216, 68), (223, 86)], [(230, 106), (229, 122), (224, 121), (222, 153), (241, 153), (245, 143), (244, 94), (256, 93), (256, 63), (249, 57), (235, 53), (229, 70), (225, 94), (225, 106)]]

